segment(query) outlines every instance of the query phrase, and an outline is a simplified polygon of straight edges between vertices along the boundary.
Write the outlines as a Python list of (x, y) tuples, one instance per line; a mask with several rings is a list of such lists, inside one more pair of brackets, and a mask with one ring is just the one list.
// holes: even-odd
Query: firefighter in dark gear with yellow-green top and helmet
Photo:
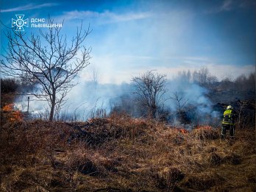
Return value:
[(226, 138), (227, 130), (230, 130), (230, 137), (235, 138), (235, 117), (236, 113), (231, 105), (227, 106), (227, 110), (223, 113), (221, 138)]

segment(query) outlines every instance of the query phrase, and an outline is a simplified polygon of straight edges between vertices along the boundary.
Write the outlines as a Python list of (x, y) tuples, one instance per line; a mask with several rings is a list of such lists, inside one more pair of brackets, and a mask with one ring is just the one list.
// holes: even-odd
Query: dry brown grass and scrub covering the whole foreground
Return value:
[(113, 114), (86, 122), (4, 121), (0, 191), (255, 191), (255, 129), (191, 132)]

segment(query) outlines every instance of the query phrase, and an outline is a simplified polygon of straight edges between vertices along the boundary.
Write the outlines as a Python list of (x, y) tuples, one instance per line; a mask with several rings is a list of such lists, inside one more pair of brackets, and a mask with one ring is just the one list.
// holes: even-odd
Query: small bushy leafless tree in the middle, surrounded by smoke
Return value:
[(148, 71), (141, 77), (132, 77), (135, 83), (135, 94), (138, 100), (146, 106), (153, 118), (157, 117), (157, 112), (163, 109), (166, 101), (166, 75), (157, 74), (157, 72)]

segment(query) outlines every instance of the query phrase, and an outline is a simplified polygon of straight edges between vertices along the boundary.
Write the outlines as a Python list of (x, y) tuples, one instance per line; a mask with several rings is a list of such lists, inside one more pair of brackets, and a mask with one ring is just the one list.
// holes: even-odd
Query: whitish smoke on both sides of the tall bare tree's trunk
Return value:
[[(121, 85), (100, 84), (94, 81), (85, 81), (80, 77), (77, 78), (77, 81), (79, 84), (72, 88), (65, 97), (66, 100), (58, 114), (60, 119), (86, 120), (97, 109), (103, 109), (108, 114), (112, 105), (121, 96), (132, 93), (132, 86), (127, 83)], [(15, 106), (26, 112), (28, 110), (28, 96), (29, 113), (34, 117), (46, 118), (49, 114), (49, 105), (43, 98), (24, 94), (15, 100)]]

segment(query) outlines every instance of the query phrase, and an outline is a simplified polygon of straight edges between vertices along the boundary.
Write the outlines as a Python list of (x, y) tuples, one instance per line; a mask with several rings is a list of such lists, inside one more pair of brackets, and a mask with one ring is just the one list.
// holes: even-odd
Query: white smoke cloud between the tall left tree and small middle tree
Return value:
[(90, 118), (93, 110), (104, 109), (110, 113), (113, 100), (120, 98), (124, 94), (129, 94), (131, 86), (127, 83), (121, 85), (100, 84), (98, 82), (83, 81), (68, 93), (68, 101), (64, 110), (69, 106), (71, 113), (85, 114), (84, 118)]

